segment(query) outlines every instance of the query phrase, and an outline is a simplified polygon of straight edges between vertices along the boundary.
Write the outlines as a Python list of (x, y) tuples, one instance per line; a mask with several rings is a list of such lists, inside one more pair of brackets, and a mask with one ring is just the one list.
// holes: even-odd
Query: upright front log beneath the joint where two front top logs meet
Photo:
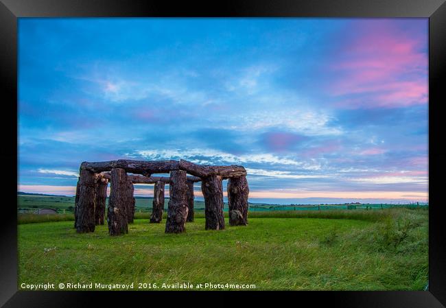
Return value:
[(187, 218), (187, 173), (183, 170), (170, 171), (169, 206), (165, 233), (182, 233), (185, 231)]

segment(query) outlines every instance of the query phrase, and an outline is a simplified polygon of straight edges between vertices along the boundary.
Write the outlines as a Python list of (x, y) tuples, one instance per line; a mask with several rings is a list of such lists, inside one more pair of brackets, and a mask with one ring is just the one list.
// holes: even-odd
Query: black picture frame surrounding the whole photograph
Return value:
[[(1, 162), (3, 204), (1, 207), (0, 305), (5, 307), (79, 307), (108, 305), (123, 296), (136, 296), (150, 303), (146, 292), (25, 292), (17, 286), (17, 19), (19, 17), (93, 16), (274, 16), (274, 17), (425, 17), (429, 18), (429, 289), (418, 292), (205, 292), (206, 297), (221, 296), (229, 304), (242, 297), (266, 298), (282, 305), (309, 303), (305, 307), (445, 307), (446, 305), (446, 228), (442, 224), (442, 189), (446, 185), (446, 151), (442, 135), (441, 106), (446, 103), (446, 3), (445, 0), (245, 0), (208, 1), (125, 1), (125, 0), (1, 0), (0, 49), (2, 109)], [(15, 182), (14, 182), (15, 181)], [(200, 301), (194, 292), (161, 292), (153, 297), (169, 301)], [(241, 296), (242, 294), (242, 296)], [(187, 296), (188, 299), (184, 299)], [(198, 297), (200, 296), (200, 297)], [(277, 296), (280, 296), (277, 297)], [(274, 300), (275, 298), (275, 300)], [(207, 299), (209, 301), (209, 299)], [(204, 300), (203, 300), (204, 302)], [(215, 299), (215, 303), (219, 300)], [(117, 303), (117, 302), (115, 302)], [(132, 304), (128, 301), (128, 304)], [(153, 303), (153, 302), (152, 302)], [(205, 302), (204, 302), (205, 303)], [(136, 305), (136, 304), (135, 304)]]

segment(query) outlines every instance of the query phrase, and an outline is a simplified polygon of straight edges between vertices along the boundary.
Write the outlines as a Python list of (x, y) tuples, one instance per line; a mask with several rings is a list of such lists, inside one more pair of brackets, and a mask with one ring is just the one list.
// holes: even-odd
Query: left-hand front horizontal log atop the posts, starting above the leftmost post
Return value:
[(119, 159), (117, 161), (101, 161), (96, 163), (84, 161), (80, 165), (80, 169), (87, 169), (95, 173), (110, 171), (113, 168), (120, 168), (130, 173), (150, 176), (150, 174), (163, 174), (171, 170), (178, 170), (178, 161), (131, 161)]

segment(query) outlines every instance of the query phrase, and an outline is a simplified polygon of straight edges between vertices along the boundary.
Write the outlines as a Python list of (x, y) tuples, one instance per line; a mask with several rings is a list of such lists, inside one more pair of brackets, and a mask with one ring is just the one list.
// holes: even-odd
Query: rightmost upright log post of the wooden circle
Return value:
[(248, 224), (248, 194), (246, 176), (228, 180), (229, 224), (231, 226)]

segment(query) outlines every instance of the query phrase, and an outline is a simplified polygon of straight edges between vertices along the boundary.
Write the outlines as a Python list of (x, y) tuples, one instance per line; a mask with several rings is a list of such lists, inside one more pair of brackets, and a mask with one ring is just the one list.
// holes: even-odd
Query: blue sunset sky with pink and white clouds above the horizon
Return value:
[(427, 31), (21, 18), (17, 189), (72, 196), (82, 161), (182, 158), (243, 165), (250, 202), (426, 202)]

